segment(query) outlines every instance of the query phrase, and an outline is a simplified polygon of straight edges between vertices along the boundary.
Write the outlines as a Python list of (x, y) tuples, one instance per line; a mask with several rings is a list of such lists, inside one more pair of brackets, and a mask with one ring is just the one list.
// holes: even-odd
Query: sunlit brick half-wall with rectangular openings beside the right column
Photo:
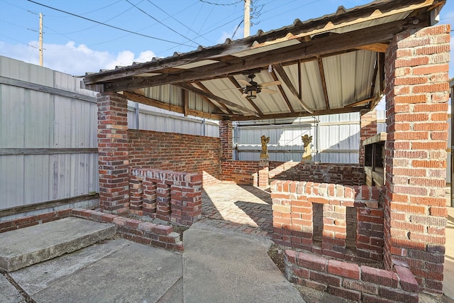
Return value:
[[(271, 184), (271, 198), (276, 243), (341, 260), (382, 261), (381, 187), (279, 180)], [(314, 211), (314, 204), (319, 204), (320, 211)], [(355, 210), (355, 224), (347, 224), (347, 208)], [(353, 226), (355, 231), (349, 231)], [(354, 247), (347, 250), (349, 240)]]

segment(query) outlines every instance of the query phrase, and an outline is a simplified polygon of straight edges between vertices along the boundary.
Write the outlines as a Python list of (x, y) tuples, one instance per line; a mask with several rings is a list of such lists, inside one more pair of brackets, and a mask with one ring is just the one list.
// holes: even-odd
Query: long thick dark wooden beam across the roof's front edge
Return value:
[[(428, 26), (428, 17), (417, 18), (419, 27)], [(262, 68), (267, 65), (275, 65), (277, 62), (284, 63), (294, 60), (315, 59), (316, 56), (324, 56), (338, 53), (345, 50), (354, 50), (363, 45), (370, 45), (378, 41), (390, 41), (395, 33), (400, 33), (406, 28), (414, 28), (414, 18), (384, 23), (370, 28), (362, 28), (358, 31), (342, 33), (333, 36), (315, 38), (307, 42), (279, 48), (267, 53), (258, 53), (248, 57), (238, 57), (226, 62), (218, 62), (202, 67), (194, 67), (189, 70), (181, 70), (169, 74), (156, 75), (153, 77), (128, 77), (128, 75), (117, 75), (104, 84), (105, 92), (119, 92), (127, 89), (153, 87), (162, 84), (175, 84), (181, 82), (197, 82), (214, 77), (226, 77), (243, 70)], [(121, 79), (120, 79), (121, 78)], [(86, 78), (87, 79), (87, 78)], [(84, 80), (85, 81), (85, 80)], [(95, 82), (93, 84), (97, 84)], [(87, 79), (86, 84), (92, 84)]]

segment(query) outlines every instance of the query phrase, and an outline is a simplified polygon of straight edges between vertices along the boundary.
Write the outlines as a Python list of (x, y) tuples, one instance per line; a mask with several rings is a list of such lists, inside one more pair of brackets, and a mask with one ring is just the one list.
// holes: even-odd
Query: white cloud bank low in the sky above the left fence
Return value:
[[(133, 62), (146, 62), (155, 57), (151, 50), (140, 53), (138, 57), (129, 50), (114, 55), (92, 50), (84, 44), (76, 45), (73, 41), (65, 45), (44, 44), (43, 48), (45, 67), (75, 76), (85, 75), (85, 72), (99, 72), (116, 66), (131, 65)], [(0, 55), (38, 65), (38, 42), (31, 41), (28, 45), (0, 42)]]

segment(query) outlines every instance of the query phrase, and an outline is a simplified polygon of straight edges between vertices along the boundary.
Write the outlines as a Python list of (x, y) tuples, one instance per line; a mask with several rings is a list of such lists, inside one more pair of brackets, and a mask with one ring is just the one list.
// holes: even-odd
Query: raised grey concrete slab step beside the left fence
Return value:
[(115, 224), (69, 217), (0, 233), (0, 268), (12, 272), (111, 238)]

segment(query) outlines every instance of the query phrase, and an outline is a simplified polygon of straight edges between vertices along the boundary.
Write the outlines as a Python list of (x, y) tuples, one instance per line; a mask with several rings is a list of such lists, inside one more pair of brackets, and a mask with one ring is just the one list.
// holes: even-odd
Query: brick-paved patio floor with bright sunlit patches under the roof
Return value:
[(204, 187), (201, 199), (206, 224), (271, 238), (269, 189), (218, 183)]

